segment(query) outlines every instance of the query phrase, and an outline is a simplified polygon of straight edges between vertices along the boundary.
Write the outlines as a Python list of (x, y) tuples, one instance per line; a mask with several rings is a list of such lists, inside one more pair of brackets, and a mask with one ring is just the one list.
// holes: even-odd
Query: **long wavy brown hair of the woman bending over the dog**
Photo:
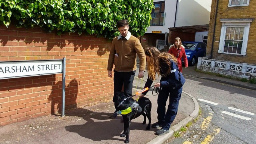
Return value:
[[(170, 65), (170, 61), (169, 60), (173, 60), (175, 63), (177, 63), (177, 59), (176, 57), (174, 57), (172, 54), (163, 52), (160, 53), (160, 51), (156, 48), (156, 47), (149, 47), (146, 48), (145, 50), (145, 54), (146, 56), (150, 57), (150, 60), (148, 62), (148, 75), (149, 78), (154, 81), (156, 79), (156, 73), (158, 75), (160, 74), (160, 60), (165, 61), (168, 65)], [(167, 73), (165, 73), (165, 75), (170, 74), (171, 72), (171, 68), (169, 67)]]

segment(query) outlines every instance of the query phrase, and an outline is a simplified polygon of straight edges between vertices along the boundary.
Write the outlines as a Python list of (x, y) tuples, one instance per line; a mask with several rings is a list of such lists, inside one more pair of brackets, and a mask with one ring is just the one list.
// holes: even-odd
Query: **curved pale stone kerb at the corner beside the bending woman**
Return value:
[(187, 125), (187, 123), (193, 121), (198, 116), (199, 105), (198, 105), (196, 99), (193, 96), (191, 96), (190, 94), (186, 93), (185, 91), (183, 91), (183, 93), (187, 94), (189, 97), (192, 98), (192, 100), (194, 102), (194, 111), (189, 116), (187, 116), (187, 118), (181, 120), (181, 122), (172, 126), (170, 128), (170, 132), (168, 134), (158, 135), (156, 138), (154, 138), (147, 144), (163, 144), (163, 143), (165, 143), (169, 138), (171, 138), (174, 135), (174, 132), (179, 131), (182, 128), (182, 126)]

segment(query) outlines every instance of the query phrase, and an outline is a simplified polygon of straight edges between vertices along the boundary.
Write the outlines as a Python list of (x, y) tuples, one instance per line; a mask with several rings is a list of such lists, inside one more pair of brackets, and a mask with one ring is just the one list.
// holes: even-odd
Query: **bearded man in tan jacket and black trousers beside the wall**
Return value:
[[(140, 40), (128, 31), (129, 23), (126, 19), (117, 22), (116, 26), (120, 32), (118, 37), (113, 38), (110, 48), (109, 61), (107, 65), (108, 76), (112, 78), (114, 69), (114, 93), (121, 91), (124, 85), (125, 96), (132, 96), (132, 83), (137, 69), (136, 57), (140, 58), (140, 69), (138, 78), (143, 78), (146, 71), (146, 55), (140, 44)], [(115, 118), (119, 112), (115, 111), (110, 118)]]

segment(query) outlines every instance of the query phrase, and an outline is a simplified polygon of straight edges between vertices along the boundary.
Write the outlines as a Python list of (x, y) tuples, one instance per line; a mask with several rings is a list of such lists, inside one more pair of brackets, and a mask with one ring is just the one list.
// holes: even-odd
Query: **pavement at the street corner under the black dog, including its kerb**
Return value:
[[(134, 79), (134, 89), (144, 87), (145, 81)], [(137, 89), (136, 89), (137, 85)], [(152, 101), (152, 124), (157, 122), (157, 96), (152, 95), (152, 89), (145, 97)], [(137, 98), (137, 97), (135, 97)], [(166, 103), (166, 108), (169, 100)], [(112, 100), (102, 101), (91, 106), (83, 106), (66, 112), (65, 117), (48, 115), (19, 123), (0, 127), (0, 143), (12, 144), (122, 144), (125, 138), (119, 137), (124, 129), (122, 116), (115, 119), (109, 115), (115, 111)], [(183, 92), (179, 102), (178, 114), (171, 124), (170, 132), (163, 136), (156, 135), (156, 128), (146, 131), (143, 116), (133, 119), (130, 130), (129, 144), (162, 144), (174, 132), (192, 121), (198, 115), (197, 101)], [(148, 120), (147, 120), (148, 123)]]

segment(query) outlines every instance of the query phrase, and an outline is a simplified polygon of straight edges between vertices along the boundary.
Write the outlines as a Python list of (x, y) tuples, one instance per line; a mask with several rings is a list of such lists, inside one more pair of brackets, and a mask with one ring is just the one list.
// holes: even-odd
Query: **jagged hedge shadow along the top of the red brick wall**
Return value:
[[(53, 48), (74, 48), (74, 51), (94, 51), (94, 48), (108, 48), (111, 41), (95, 35), (78, 35), (77, 33), (64, 33), (57, 35), (55, 31), (44, 32), (40, 27), (30, 29), (16, 28), (10, 25), (8, 28), (0, 25), (0, 43), (2, 46), (44, 47), (45, 51), (53, 51)], [(99, 50), (99, 52), (104, 50)], [(107, 51), (107, 49), (106, 49)]]

